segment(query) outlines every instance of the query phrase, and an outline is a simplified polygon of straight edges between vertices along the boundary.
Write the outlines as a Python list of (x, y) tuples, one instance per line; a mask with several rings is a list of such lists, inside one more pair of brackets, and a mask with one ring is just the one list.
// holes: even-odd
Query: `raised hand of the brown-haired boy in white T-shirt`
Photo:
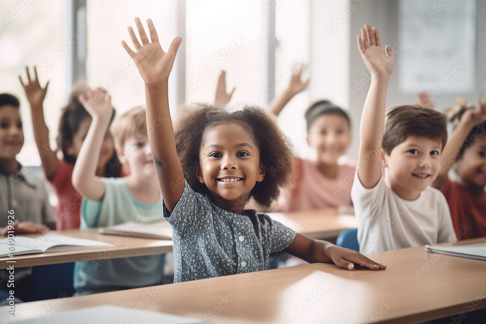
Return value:
[(386, 46), (386, 54), (382, 48), (382, 40), (378, 29), (368, 24), (361, 29), (358, 36), (358, 48), (364, 64), (373, 77), (390, 77), (393, 72), (393, 52), (390, 45)]

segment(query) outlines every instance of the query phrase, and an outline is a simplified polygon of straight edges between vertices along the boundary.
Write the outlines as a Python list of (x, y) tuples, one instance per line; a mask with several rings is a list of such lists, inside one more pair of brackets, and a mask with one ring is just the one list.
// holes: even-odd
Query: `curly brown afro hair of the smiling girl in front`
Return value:
[(175, 122), (174, 133), (184, 178), (194, 191), (208, 192), (206, 185), (196, 177), (199, 151), (208, 131), (229, 122), (247, 131), (260, 150), (260, 162), (266, 173), (263, 180), (255, 184), (249, 198), (262, 206), (270, 206), (278, 199), (280, 188), (291, 184), (294, 152), (290, 140), (278, 127), (276, 118), (259, 106), (231, 106), (229, 109), (208, 103), (183, 106)]

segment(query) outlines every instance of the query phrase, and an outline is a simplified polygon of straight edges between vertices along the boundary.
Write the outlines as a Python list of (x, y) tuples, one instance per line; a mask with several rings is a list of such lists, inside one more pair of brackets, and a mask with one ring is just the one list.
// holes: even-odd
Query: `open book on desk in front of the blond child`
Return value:
[(99, 229), (99, 232), (127, 237), (172, 240), (172, 226), (166, 220), (149, 223), (126, 222), (102, 227)]

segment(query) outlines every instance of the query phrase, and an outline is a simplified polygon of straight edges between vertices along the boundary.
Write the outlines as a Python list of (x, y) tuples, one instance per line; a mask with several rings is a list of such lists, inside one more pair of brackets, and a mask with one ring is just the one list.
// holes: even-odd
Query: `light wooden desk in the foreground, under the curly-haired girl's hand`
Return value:
[[(458, 244), (479, 242), (486, 238)], [(423, 246), (370, 257), (388, 268), (351, 272), (332, 264), (306, 264), (17, 304), (16, 319), (114, 305), (211, 323), (419, 323), (486, 307), (485, 261), (427, 253)]]

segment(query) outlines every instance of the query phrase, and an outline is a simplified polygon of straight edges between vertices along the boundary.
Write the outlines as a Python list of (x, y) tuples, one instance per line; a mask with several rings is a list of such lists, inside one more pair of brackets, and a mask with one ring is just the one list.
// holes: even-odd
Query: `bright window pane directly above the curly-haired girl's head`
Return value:
[(205, 0), (186, 17), (186, 101), (214, 102), (216, 83), (226, 70), (231, 102), (254, 103), (265, 90), (268, 67), (262, 58), (260, 0)]

